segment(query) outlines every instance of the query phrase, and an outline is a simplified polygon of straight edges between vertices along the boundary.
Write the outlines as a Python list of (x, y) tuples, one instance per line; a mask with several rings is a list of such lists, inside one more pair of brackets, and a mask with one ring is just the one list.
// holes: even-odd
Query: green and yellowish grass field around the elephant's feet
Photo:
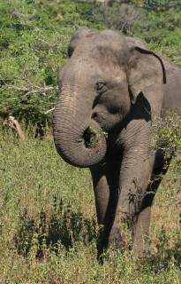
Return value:
[(168, 175), (155, 198), (155, 255), (110, 248), (101, 265), (89, 171), (63, 162), (52, 138), (21, 142), (2, 131), (0, 283), (180, 283), (179, 186)]

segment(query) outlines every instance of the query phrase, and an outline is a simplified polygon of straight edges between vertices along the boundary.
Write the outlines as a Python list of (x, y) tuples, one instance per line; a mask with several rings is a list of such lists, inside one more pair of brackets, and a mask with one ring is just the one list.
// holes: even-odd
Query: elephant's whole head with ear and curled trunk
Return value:
[[(141, 91), (162, 84), (164, 67), (154, 52), (110, 30), (77, 30), (68, 53), (58, 76), (54, 140), (66, 162), (91, 167), (106, 154), (102, 131), (109, 135), (130, 114)], [(85, 139), (95, 141), (87, 145)]]

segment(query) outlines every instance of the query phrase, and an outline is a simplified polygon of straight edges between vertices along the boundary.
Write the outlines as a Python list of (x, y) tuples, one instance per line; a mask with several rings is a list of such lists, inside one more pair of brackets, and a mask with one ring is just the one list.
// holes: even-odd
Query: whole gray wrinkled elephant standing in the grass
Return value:
[[(133, 251), (147, 251), (151, 205), (161, 182), (151, 180), (166, 171), (162, 154), (150, 149), (152, 121), (163, 110), (181, 113), (181, 69), (140, 39), (110, 30), (79, 29), (68, 51), (54, 114), (57, 152), (91, 170), (98, 222), (105, 227), (99, 254), (112, 243), (122, 248), (120, 221), (132, 232)], [(108, 137), (86, 146), (89, 126)]]

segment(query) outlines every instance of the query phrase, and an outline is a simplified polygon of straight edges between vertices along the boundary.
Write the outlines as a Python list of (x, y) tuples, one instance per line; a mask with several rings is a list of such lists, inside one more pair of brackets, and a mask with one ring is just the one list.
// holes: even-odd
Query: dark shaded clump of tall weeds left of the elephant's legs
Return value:
[(36, 220), (27, 210), (19, 217), (19, 230), (14, 237), (15, 247), (20, 255), (27, 256), (34, 251), (37, 257), (43, 256), (47, 249), (57, 251), (59, 245), (69, 250), (78, 241), (84, 245), (96, 241), (98, 226), (94, 218), (85, 217), (80, 209), (72, 209), (70, 203), (57, 201), (50, 217), (41, 210)]

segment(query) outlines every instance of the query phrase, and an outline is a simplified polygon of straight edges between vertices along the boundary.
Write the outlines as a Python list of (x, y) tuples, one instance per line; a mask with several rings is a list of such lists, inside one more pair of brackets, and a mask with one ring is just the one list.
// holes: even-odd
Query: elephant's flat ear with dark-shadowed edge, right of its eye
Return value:
[(135, 103), (137, 96), (147, 87), (166, 83), (162, 59), (153, 51), (136, 46), (131, 49), (127, 64), (127, 79), (132, 103)]

